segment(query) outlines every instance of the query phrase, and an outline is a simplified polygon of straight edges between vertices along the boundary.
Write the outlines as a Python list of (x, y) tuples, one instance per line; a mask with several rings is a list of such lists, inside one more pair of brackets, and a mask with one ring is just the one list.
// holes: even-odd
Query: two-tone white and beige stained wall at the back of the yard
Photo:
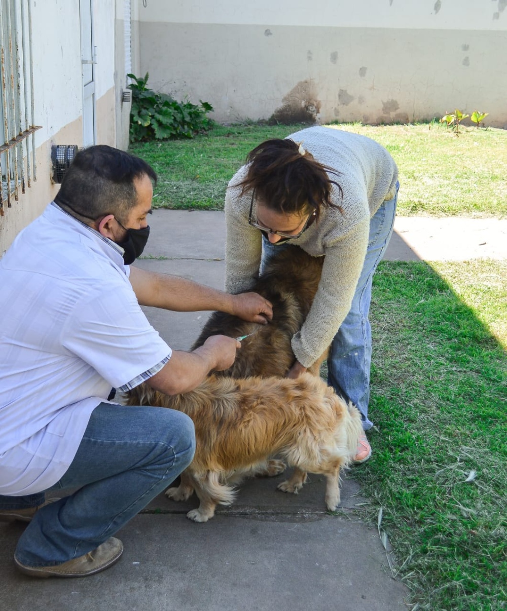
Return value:
[(137, 2), (138, 73), (219, 121), (405, 122), (454, 108), (507, 126), (506, 0)]

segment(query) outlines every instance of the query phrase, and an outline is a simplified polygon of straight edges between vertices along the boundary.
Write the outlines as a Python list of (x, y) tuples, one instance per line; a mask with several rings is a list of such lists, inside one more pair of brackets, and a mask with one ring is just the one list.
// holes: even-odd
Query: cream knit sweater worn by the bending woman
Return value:
[[(292, 338), (292, 349), (304, 366), (312, 365), (331, 343), (349, 313), (368, 246), (369, 221), (384, 200), (396, 193), (398, 168), (391, 155), (377, 142), (358, 134), (327, 127), (311, 127), (288, 136), (302, 142), (314, 158), (336, 169), (331, 175), (343, 189), (333, 193), (341, 206), (322, 209), (318, 222), (289, 240), (314, 257), (325, 255), (319, 290), (300, 332)], [(229, 183), (226, 199), (226, 290), (250, 290), (259, 273), (261, 239), (258, 229), (248, 225), (251, 193), (240, 196), (237, 183), (246, 166)]]

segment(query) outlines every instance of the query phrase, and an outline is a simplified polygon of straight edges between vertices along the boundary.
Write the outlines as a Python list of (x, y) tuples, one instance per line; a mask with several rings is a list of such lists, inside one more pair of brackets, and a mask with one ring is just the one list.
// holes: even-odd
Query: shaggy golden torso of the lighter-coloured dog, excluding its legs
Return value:
[(273, 452), (292, 466), (322, 473), (328, 461), (349, 464), (362, 430), (357, 409), (308, 373), (297, 379), (212, 375), (181, 395), (147, 388), (141, 404), (190, 416), (197, 447), (191, 470), (200, 475), (232, 473)]

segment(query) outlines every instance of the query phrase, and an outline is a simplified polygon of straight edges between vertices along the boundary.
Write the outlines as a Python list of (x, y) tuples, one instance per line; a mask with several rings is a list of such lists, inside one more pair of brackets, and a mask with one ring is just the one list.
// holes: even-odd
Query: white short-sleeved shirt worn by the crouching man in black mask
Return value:
[(55, 203), (0, 260), (0, 494), (56, 483), (111, 387), (171, 356), (129, 273), (120, 247)]

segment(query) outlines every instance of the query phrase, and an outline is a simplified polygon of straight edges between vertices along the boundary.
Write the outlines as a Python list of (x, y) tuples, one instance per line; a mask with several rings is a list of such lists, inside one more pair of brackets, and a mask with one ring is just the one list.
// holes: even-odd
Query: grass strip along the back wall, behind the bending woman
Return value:
[[(130, 151), (157, 170), (156, 207), (222, 210), (227, 183), (247, 153), (302, 127), (217, 125), (191, 140), (142, 142)], [(468, 127), (455, 136), (438, 123), (332, 127), (371, 137), (390, 151), (400, 172), (400, 216), (506, 216), (507, 131)]]

